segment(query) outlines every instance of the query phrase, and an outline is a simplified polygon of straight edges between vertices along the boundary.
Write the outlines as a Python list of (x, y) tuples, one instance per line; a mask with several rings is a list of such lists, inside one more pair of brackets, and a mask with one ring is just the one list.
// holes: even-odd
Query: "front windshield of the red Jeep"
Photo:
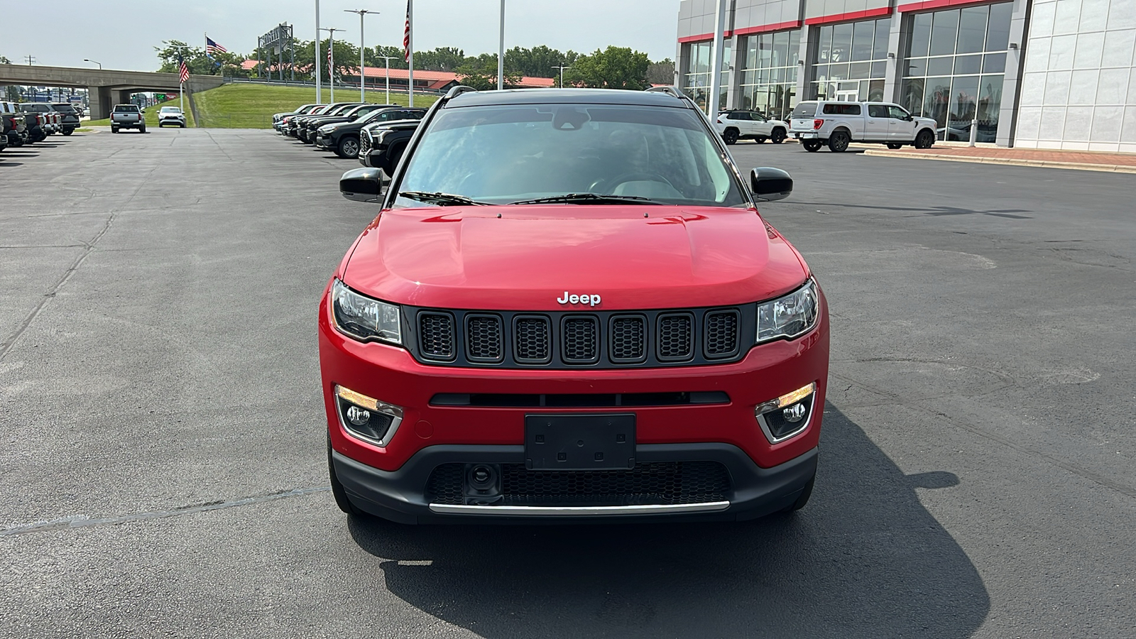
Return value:
[[(747, 204), (698, 115), (670, 107), (442, 109), (398, 189), (396, 207), (424, 205), (420, 197), (402, 197), (404, 192), (445, 193), (483, 204), (569, 193), (692, 206)], [(599, 201), (573, 198), (570, 204)]]

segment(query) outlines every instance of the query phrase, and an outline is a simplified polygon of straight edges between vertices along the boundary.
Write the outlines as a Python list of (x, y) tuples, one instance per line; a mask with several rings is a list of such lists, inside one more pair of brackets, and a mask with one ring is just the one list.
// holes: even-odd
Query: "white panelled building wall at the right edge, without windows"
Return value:
[(1014, 146), (1136, 152), (1136, 0), (1034, 0)]

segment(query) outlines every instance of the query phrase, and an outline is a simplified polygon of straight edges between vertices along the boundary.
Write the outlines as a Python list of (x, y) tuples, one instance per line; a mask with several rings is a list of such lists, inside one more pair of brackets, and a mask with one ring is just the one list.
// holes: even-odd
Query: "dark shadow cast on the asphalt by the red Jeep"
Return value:
[(959, 479), (904, 475), (832, 405), (820, 459), (803, 511), (754, 522), (350, 528), (391, 594), (487, 638), (969, 637), (989, 597), (916, 492)]

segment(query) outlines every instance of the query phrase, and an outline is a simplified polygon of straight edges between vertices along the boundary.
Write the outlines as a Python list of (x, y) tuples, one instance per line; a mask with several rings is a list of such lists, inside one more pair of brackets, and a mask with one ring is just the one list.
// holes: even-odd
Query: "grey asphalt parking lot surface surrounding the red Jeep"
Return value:
[(295, 147), (0, 153), (0, 634), (1133, 636), (1130, 175), (738, 143), (833, 309), (809, 506), (408, 528), (326, 488), (316, 302), (376, 208)]

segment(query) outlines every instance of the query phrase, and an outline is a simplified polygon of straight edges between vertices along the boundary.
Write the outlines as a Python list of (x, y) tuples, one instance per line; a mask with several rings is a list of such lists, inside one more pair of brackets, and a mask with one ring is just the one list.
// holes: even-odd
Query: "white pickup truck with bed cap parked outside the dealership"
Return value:
[(935, 143), (934, 119), (914, 117), (892, 102), (799, 102), (790, 121), (790, 135), (809, 152), (828, 144), (840, 153), (851, 142), (878, 142), (888, 149), (929, 149)]

